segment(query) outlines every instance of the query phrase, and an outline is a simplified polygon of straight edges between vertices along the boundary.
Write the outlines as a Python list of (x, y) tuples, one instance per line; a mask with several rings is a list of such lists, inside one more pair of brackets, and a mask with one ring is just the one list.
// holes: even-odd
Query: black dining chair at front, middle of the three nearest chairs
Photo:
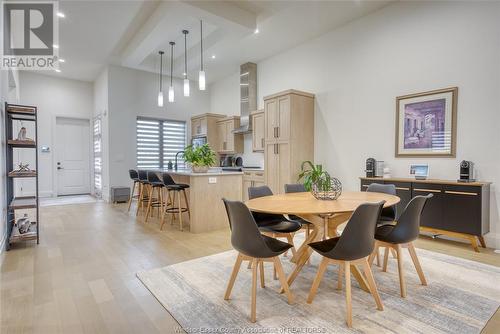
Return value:
[(340, 237), (310, 243), (309, 246), (323, 256), (314, 278), (307, 303), (312, 303), (319, 284), (329, 264), (338, 264), (337, 289), (342, 289), (342, 272), (345, 274), (346, 323), (352, 327), (351, 306), (351, 265), (363, 266), (370, 293), (378, 310), (383, 310), (382, 300), (377, 291), (368, 259), (374, 249), (374, 231), (385, 201), (361, 204), (347, 222)]

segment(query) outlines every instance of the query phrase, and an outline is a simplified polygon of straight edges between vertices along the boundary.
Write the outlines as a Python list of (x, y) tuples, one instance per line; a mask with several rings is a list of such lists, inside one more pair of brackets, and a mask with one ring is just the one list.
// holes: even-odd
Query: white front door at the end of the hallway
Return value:
[(90, 193), (88, 120), (56, 118), (57, 195)]

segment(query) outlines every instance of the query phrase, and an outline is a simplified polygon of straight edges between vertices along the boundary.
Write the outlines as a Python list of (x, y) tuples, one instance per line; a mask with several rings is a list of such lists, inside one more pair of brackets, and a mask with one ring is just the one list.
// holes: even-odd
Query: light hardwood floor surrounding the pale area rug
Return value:
[[(173, 333), (177, 322), (135, 273), (229, 250), (229, 231), (191, 234), (165, 224), (160, 232), (158, 219), (144, 225), (126, 208), (42, 208), (40, 245), (1, 255), (0, 333)], [(427, 238), (416, 246), (500, 266), (489, 249)], [(497, 311), (484, 333), (499, 331)]]

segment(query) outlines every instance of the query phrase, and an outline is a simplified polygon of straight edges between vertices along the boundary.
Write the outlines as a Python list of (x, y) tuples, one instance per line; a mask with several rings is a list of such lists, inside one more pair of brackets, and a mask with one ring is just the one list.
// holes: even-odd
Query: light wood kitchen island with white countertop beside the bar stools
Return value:
[[(169, 173), (176, 183), (189, 184), (186, 193), (191, 211), (190, 232), (201, 233), (229, 227), (222, 198), (242, 200), (243, 172), (211, 168), (207, 173), (193, 173), (190, 169), (165, 170), (159, 173)], [(182, 202), (185, 206), (186, 203)], [(169, 221), (171, 218), (168, 215)], [(185, 223), (188, 215), (184, 214), (182, 218), (187, 226)]]

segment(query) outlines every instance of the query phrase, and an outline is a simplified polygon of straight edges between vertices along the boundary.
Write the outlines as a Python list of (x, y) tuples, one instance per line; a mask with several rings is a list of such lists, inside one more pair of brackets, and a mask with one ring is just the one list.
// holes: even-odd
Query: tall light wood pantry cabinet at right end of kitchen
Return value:
[(264, 97), (265, 179), (273, 193), (297, 183), (303, 161), (314, 161), (314, 95), (287, 90)]

